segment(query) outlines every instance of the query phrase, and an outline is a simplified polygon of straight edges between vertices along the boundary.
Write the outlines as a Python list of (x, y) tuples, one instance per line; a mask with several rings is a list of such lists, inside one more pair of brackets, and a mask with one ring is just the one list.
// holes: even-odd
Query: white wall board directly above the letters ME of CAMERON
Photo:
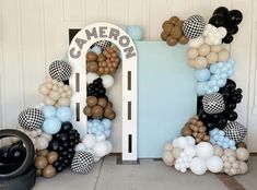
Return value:
[(107, 0), (94, 0), (85, 2), (85, 21), (86, 25), (94, 22), (103, 22), (106, 20), (106, 2)]

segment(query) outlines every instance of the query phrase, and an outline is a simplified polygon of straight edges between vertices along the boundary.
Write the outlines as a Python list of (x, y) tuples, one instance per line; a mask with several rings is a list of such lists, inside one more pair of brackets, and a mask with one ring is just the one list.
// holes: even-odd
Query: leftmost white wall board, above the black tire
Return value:
[(2, 0), (2, 52), (4, 128), (15, 128), (23, 107), (20, 1)]

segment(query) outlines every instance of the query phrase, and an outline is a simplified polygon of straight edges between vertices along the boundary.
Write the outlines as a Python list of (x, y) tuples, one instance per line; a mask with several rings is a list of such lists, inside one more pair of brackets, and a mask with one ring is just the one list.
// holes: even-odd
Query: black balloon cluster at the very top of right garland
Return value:
[(220, 7), (214, 10), (209, 23), (219, 27), (223, 26), (226, 28), (227, 33), (223, 37), (222, 41), (230, 44), (233, 41), (233, 35), (238, 32), (238, 24), (243, 20), (243, 14), (238, 10), (229, 11), (227, 8)]

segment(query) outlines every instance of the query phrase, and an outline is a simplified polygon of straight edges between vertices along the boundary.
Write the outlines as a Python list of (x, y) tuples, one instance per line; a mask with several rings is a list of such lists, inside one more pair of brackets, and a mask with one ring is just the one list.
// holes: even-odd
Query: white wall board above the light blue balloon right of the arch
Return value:
[(128, 1), (128, 24), (139, 25), (142, 27), (144, 40), (150, 39), (149, 32), (149, 1), (150, 0), (129, 0)]

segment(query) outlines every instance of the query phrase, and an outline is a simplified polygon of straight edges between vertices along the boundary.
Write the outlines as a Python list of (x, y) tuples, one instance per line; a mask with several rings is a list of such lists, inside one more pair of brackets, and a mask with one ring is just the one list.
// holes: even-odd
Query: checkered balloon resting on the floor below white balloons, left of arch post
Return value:
[(77, 174), (89, 174), (94, 164), (94, 156), (91, 153), (79, 151), (75, 153), (71, 169)]

